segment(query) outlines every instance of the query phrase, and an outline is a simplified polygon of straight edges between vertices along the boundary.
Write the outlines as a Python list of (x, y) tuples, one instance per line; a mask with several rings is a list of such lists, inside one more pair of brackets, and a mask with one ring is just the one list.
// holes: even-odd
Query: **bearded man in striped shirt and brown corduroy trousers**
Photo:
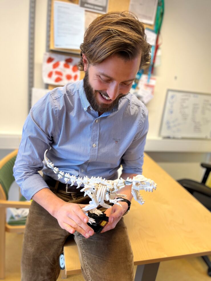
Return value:
[[(108, 13), (90, 24), (81, 44), (84, 80), (50, 91), (31, 108), (14, 167), (22, 194), (33, 198), (23, 243), (22, 280), (56, 280), (58, 257), (74, 234), (85, 280), (133, 280), (133, 253), (123, 214), (128, 203), (105, 211), (109, 223), (94, 233), (81, 208), (90, 198), (46, 167), (115, 179), (141, 174), (147, 109), (128, 94), (137, 71), (150, 61), (144, 26), (128, 12)], [(43, 167), (44, 164), (44, 167)], [(41, 170), (43, 178), (38, 174)], [(131, 201), (131, 186), (121, 190)]]

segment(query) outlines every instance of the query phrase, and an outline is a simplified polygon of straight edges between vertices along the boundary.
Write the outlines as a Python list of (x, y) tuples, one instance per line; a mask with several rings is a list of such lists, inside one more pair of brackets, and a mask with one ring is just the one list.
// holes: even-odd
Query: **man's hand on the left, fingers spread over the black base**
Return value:
[(54, 217), (62, 229), (70, 233), (78, 231), (85, 238), (89, 238), (94, 234), (94, 230), (87, 224), (88, 216), (81, 210), (85, 206), (87, 205), (63, 202), (62, 206), (54, 212)]

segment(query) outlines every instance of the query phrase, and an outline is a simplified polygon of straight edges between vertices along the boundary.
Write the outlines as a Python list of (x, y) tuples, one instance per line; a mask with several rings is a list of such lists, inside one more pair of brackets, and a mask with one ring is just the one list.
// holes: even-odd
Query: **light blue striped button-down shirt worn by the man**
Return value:
[[(30, 110), (14, 166), (21, 193), (30, 200), (48, 187), (38, 171), (58, 180), (46, 167), (47, 157), (64, 173), (116, 179), (117, 169), (142, 173), (143, 151), (148, 131), (145, 105), (128, 94), (100, 117), (84, 93), (83, 80), (58, 87)], [(64, 179), (60, 179), (64, 182)]]

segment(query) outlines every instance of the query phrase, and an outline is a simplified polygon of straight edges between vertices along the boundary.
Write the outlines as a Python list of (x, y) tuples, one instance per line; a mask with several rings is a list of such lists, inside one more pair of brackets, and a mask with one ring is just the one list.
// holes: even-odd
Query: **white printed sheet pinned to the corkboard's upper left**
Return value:
[(54, 46), (80, 49), (84, 40), (84, 9), (76, 4), (54, 1)]

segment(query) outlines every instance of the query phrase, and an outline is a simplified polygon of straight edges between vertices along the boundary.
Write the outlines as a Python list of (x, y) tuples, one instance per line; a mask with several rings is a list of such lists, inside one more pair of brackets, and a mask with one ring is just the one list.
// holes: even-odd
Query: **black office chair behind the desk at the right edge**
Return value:
[[(206, 168), (202, 182), (192, 181), (189, 179), (181, 179), (178, 182), (186, 188), (199, 202), (201, 202), (208, 210), (211, 211), (211, 188), (206, 186), (206, 181), (211, 171), (211, 164), (201, 163)], [(211, 234), (211, 233), (210, 233)], [(208, 265), (208, 275), (211, 276), (211, 261), (208, 256), (202, 256), (202, 259)]]

